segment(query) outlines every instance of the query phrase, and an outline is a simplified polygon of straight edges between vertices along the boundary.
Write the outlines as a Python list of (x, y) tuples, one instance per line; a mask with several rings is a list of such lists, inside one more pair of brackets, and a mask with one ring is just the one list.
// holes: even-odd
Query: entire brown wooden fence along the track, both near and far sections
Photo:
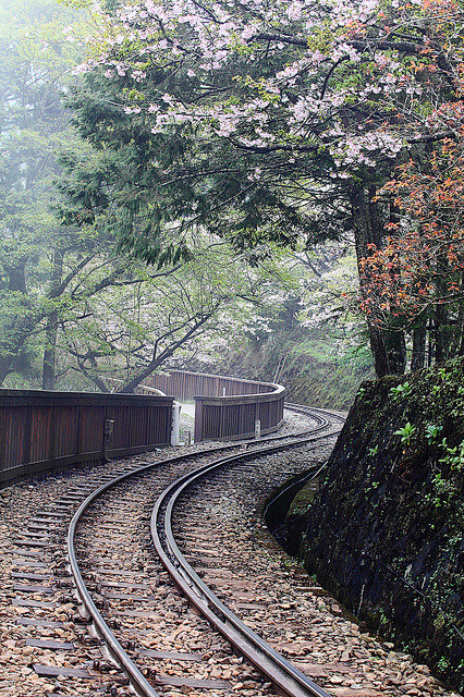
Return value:
[(283, 418), (279, 384), (185, 370), (146, 380), (144, 394), (0, 389), (0, 488), (44, 470), (175, 443), (179, 407), (159, 390), (195, 400), (196, 442), (270, 433)]

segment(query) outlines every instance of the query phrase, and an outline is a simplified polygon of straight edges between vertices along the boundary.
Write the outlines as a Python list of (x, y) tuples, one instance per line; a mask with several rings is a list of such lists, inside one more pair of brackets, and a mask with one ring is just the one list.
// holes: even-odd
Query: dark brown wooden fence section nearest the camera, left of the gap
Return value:
[(168, 445), (172, 404), (171, 396), (0, 390), (0, 486)]

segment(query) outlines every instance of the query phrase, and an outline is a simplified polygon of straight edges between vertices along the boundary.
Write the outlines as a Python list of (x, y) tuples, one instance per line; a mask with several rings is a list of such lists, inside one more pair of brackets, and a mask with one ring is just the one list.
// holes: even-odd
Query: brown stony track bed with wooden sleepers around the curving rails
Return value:
[[(307, 472), (308, 463), (320, 465), (327, 458), (334, 436), (320, 438), (339, 429), (342, 419), (335, 414), (337, 426), (315, 433), (325, 418), (332, 420), (318, 411), (312, 419), (313, 435), (304, 436), (301, 429), (288, 435), (286, 444), (280, 437), (262, 439), (269, 454), (246, 462), (242, 457), (242, 463), (205, 474), (200, 485), (180, 492), (172, 506), (174, 541), (219, 601), (321, 686), (322, 694), (455, 697), (428, 675), (426, 667), (415, 665), (411, 657), (379, 644), (344, 617), (337, 601), (285, 560), (264, 530), (260, 506), (272, 488)], [(297, 442), (305, 438), (306, 445)], [(149, 466), (141, 457), (108, 463), (3, 492), (3, 521), (14, 523), (16, 535), (8, 542), (5, 526), (0, 526), (4, 557), (11, 557), (11, 572), (0, 588), (8, 638), (0, 663), (9, 697), (276, 695), (269, 681), (209, 631), (209, 621), (194, 612), (170, 582), (154, 554), (148, 527), (156, 500), (173, 481), (198, 468), (198, 458), (210, 466), (212, 460), (241, 450), (248, 456), (252, 449), (251, 443), (208, 448), (191, 452), (187, 462), (183, 456), (161, 461), (163, 454), (158, 453), (151, 456), (158, 462)], [(114, 480), (119, 484), (107, 486)], [(83, 511), (85, 499), (91, 502)], [(76, 509), (83, 517), (71, 535), (68, 521)], [(89, 621), (81, 600), (85, 589), (76, 601), (66, 571), (73, 554), (64, 558), (66, 535), (76, 540), (75, 561), (84, 586), (113, 636), (108, 643), (99, 623)], [(203, 588), (196, 592), (209, 608), (207, 597), (202, 600)], [(229, 628), (224, 613), (219, 620)], [(119, 662), (109, 660), (120, 649), (142, 674), (138, 686)], [(282, 680), (278, 675), (274, 684)]]

